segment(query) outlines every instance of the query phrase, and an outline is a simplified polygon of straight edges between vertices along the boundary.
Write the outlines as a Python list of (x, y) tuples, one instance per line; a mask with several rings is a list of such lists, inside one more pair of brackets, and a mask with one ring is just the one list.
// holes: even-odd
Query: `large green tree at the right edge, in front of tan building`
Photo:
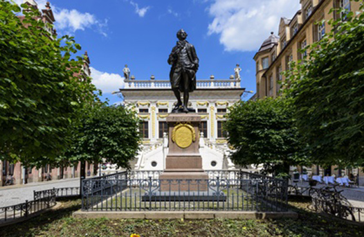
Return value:
[(364, 166), (364, 15), (344, 18), (286, 73), (307, 155), (323, 166)]

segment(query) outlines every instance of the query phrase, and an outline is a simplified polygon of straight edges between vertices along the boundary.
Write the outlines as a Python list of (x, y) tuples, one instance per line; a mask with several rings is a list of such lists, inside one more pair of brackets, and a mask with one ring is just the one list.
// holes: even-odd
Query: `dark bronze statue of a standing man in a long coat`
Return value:
[[(187, 36), (185, 30), (177, 32), (179, 41), (173, 47), (170, 58), (168, 58), (168, 64), (172, 65), (170, 71), (172, 91), (177, 98), (177, 104), (172, 112), (195, 112), (194, 109), (188, 108), (188, 99), (190, 92), (196, 89), (196, 72), (199, 69), (199, 58), (197, 58), (194, 46), (185, 40)], [(181, 93), (183, 93), (183, 103)]]

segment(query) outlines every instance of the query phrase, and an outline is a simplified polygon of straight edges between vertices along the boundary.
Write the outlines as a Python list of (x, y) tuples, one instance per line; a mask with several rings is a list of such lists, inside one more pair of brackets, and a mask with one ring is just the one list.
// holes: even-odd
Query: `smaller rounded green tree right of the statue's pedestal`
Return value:
[(283, 98), (240, 102), (230, 109), (226, 130), (235, 148), (231, 159), (242, 166), (264, 164), (266, 173), (285, 176), (289, 166), (307, 165), (293, 110)]

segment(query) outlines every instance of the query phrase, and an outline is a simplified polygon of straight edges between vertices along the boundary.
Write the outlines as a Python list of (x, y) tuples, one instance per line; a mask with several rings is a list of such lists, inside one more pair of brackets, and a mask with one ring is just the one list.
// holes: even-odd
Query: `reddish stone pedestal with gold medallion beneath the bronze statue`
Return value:
[[(163, 191), (207, 191), (208, 175), (202, 169), (202, 157), (199, 154), (199, 114), (170, 114), (169, 126), (170, 149), (165, 158), (165, 170), (161, 175)], [(181, 180), (170, 182), (169, 180)], [(198, 182), (196, 180), (199, 180)]]

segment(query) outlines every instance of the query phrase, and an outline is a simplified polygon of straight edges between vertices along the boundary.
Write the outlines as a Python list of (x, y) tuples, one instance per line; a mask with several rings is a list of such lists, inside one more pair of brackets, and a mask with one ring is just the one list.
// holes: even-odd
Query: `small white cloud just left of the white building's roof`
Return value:
[(117, 73), (107, 73), (98, 71), (93, 67), (91, 69), (92, 83), (98, 89), (102, 90), (102, 93), (108, 94), (113, 91), (118, 91), (120, 88), (124, 88), (124, 79)]

